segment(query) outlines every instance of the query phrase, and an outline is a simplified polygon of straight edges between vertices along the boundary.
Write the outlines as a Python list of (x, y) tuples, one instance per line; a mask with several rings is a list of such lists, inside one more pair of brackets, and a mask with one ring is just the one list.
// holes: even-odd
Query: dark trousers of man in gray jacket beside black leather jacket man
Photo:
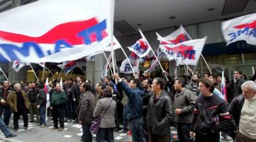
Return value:
[(177, 135), (178, 135), (179, 141), (181, 142), (192, 141), (192, 139), (190, 139), (190, 134), (189, 134), (191, 127), (192, 127), (191, 123), (177, 122)]

